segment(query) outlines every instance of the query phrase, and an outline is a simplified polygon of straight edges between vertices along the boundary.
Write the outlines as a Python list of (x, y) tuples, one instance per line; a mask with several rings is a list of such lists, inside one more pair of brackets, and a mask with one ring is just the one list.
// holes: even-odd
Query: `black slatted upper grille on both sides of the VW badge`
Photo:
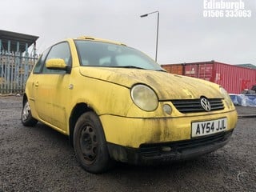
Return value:
[[(220, 98), (210, 98), (208, 99), (212, 110), (223, 110), (224, 105), (222, 99)], [(202, 108), (200, 99), (181, 99), (181, 100), (172, 100), (175, 108), (183, 113), (196, 113), (196, 112), (205, 112), (206, 110)]]

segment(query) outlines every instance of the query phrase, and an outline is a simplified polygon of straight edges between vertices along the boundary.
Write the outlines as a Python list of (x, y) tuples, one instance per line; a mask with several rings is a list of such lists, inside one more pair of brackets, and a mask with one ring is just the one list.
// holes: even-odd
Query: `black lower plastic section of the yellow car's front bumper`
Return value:
[(119, 162), (152, 165), (208, 154), (230, 140), (233, 130), (180, 142), (142, 144), (139, 148), (108, 143), (110, 157)]

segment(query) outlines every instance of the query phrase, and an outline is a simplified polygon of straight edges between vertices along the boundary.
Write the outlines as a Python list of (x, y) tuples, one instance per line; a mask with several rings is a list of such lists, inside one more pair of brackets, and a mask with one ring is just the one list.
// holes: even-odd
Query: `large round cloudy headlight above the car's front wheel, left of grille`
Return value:
[(135, 105), (142, 110), (153, 111), (158, 107), (158, 96), (148, 86), (138, 84), (130, 90), (130, 95)]

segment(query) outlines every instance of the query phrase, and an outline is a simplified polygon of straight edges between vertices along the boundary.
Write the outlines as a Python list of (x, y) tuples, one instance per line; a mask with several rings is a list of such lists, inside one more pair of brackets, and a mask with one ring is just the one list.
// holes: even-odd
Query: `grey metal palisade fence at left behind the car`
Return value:
[(18, 94), (25, 90), (26, 80), (37, 57), (25, 53), (2, 50), (0, 52), (0, 94)]

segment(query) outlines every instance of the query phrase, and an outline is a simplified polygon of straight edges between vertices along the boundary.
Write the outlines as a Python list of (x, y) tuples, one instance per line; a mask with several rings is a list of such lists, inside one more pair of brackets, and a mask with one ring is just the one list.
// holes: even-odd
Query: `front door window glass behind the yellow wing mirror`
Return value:
[(42, 69), (43, 74), (65, 74), (65, 71), (63, 70), (49, 70), (46, 68), (46, 61), (50, 58), (62, 58), (67, 66), (71, 66), (72, 59), (68, 42), (60, 42), (57, 45), (52, 46)]

